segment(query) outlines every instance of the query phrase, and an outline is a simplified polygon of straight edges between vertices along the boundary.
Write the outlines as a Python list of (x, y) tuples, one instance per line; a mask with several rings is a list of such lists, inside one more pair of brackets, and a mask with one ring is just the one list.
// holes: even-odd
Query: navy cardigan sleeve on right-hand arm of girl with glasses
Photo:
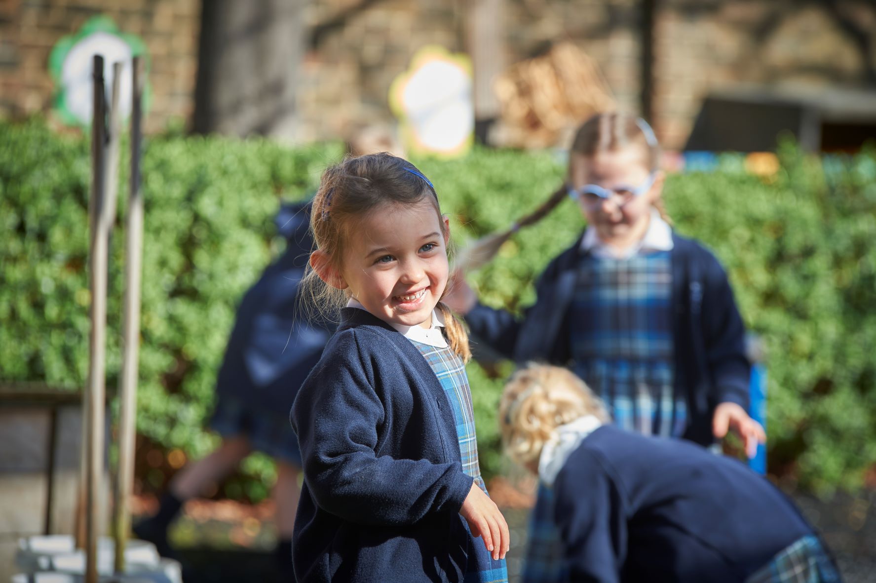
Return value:
[(745, 324), (724, 268), (711, 253), (703, 269), (703, 339), (712, 406), (735, 402), (748, 409), (751, 366), (745, 356)]

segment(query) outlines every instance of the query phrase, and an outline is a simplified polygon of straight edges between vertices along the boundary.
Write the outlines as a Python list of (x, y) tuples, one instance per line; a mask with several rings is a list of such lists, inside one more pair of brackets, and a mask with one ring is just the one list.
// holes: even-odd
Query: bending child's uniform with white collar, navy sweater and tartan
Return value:
[(794, 504), (696, 444), (562, 426), (542, 451), (523, 580), (835, 583)]

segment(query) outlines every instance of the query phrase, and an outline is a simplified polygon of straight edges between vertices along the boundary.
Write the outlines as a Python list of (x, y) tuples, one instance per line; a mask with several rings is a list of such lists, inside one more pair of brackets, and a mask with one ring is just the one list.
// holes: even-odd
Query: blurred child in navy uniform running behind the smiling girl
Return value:
[(286, 251), (265, 269), (237, 310), (210, 421), (222, 444), (177, 473), (158, 513), (134, 527), (138, 537), (155, 543), (162, 554), (170, 552), (167, 528), (182, 504), (226, 478), (252, 451), (263, 451), (277, 464), (277, 557), (291, 569), (301, 456), (288, 412), (333, 330), (299, 309), (299, 281), (313, 247), (309, 220), (309, 202), (281, 207), (276, 223), (286, 238)]

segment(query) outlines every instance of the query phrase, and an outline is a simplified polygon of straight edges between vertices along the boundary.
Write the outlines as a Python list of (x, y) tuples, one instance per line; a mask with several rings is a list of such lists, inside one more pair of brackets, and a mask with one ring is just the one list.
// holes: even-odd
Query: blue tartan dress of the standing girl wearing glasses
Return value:
[(570, 307), (574, 370), (602, 397), (614, 423), (680, 437), (684, 395), (675, 395), (670, 252), (629, 259), (587, 255)]

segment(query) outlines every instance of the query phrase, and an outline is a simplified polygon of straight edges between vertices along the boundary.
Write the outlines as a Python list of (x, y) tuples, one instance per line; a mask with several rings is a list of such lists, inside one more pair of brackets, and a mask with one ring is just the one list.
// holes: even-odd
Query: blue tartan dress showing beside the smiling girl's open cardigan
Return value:
[[(475, 435), (475, 413), (471, 406), (469, 377), (465, 373), (465, 363), (449, 347), (430, 346), (415, 340), (411, 343), (426, 359), (432, 372), (438, 377), (444, 394), (453, 409), (456, 437), (459, 439), (459, 453), (463, 459), (463, 472), (475, 479), (477, 486), (487, 494), (481, 466), (477, 460), (477, 436)], [(470, 537), (469, 567), (465, 583), (506, 583), (508, 572), (505, 559), (493, 560), (480, 538)]]

